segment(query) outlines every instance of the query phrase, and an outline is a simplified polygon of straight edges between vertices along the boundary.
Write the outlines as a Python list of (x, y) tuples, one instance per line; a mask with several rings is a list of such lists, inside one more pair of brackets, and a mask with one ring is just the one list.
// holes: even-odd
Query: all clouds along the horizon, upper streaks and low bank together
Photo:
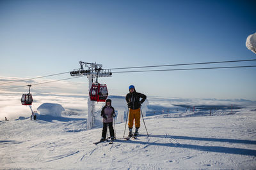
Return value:
[[(22, 80), (21, 78), (4, 78), (0, 77), (0, 84), (6, 82), (6, 80)], [(41, 85), (32, 84), (31, 94), (33, 95), (32, 109), (36, 109), (44, 103), (56, 103), (63, 106), (65, 111), (62, 115), (83, 115), (87, 118), (88, 114), (88, 84), (79, 81), (57, 81), (54, 83), (45, 83)], [(35, 83), (44, 83), (49, 81), (36, 80)], [(52, 81), (52, 80), (51, 80)], [(24, 87), (19, 87), (20, 85)], [(7, 117), (9, 120), (15, 120), (19, 117), (30, 117), (31, 110), (28, 106), (22, 106), (20, 98), (22, 94), (28, 93), (28, 87), (24, 82), (15, 82), (10, 86), (9, 84), (0, 85), (0, 120), (4, 120)], [(19, 87), (15, 89), (3, 89), (4, 87)], [(143, 92), (144, 93), (144, 92)], [(145, 93), (147, 94), (147, 93)], [(149, 95), (148, 95), (149, 96)], [(127, 111), (127, 105), (125, 103), (124, 96), (109, 96), (113, 100), (113, 106), (118, 113), (123, 114)], [(150, 106), (164, 106), (164, 107), (177, 107), (180, 104), (187, 104), (195, 106), (196, 104), (209, 104), (209, 105), (229, 105), (231, 104), (245, 104), (250, 101), (236, 101), (236, 100), (217, 100), (217, 99), (182, 99), (172, 97), (148, 97), (148, 101), (145, 105)], [(144, 103), (143, 103), (144, 105)], [(96, 111), (99, 111), (104, 103), (96, 103)], [(147, 107), (143, 108), (143, 111), (147, 111)]]

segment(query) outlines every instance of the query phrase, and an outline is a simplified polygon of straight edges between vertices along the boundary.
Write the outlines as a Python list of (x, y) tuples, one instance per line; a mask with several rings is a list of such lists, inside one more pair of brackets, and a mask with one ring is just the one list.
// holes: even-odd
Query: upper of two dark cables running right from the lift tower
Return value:
[(109, 68), (109, 69), (137, 69), (137, 68), (147, 68), (147, 67), (188, 66), (188, 65), (197, 65), (197, 64), (218, 64), (218, 63), (227, 63), (227, 62), (246, 62), (246, 61), (255, 61), (255, 60), (256, 59), (228, 60), (228, 61), (216, 61), (216, 62), (195, 62), (195, 63), (186, 63), (186, 64), (167, 64), (167, 65), (158, 65), (158, 66), (117, 67), (117, 68)]

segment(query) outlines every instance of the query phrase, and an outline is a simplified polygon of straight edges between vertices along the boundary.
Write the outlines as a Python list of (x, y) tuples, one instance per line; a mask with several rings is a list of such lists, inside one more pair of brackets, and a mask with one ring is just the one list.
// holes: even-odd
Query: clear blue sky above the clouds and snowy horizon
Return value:
[[(247, 36), (256, 32), (255, 4), (0, 0), (0, 76), (62, 73), (78, 68), (80, 60), (113, 68), (255, 59), (255, 53), (245, 46)], [(255, 67), (116, 73), (99, 81), (107, 83), (113, 95), (125, 95), (133, 84), (148, 96), (256, 100), (255, 74)], [(88, 88), (87, 78), (70, 81), (74, 89), (77, 82)], [(45, 92), (54, 93), (51, 85)]]

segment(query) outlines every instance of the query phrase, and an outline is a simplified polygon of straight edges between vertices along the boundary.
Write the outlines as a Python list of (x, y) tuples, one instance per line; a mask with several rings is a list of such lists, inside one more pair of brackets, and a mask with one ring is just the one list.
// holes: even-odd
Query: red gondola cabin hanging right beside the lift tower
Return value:
[(89, 92), (91, 101), (104, 102), (108, 98), (107, 85), (93, 83)]

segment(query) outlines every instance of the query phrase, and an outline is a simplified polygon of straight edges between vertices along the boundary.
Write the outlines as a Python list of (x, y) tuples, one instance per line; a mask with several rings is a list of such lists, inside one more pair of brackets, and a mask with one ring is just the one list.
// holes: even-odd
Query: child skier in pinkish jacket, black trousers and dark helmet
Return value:
[(102, 138), (100, 141), (105, 141), (107, 136), (107, 130), (109, 128), (111, 141), (115, 140), (115, 132), (113, 129), (113, 117), (115, 117), (115, 109), (111, 106), (111, 99), (106, 100), (106, 105), (101, 110), (101, 116), (103, 117), (103, 129)]

